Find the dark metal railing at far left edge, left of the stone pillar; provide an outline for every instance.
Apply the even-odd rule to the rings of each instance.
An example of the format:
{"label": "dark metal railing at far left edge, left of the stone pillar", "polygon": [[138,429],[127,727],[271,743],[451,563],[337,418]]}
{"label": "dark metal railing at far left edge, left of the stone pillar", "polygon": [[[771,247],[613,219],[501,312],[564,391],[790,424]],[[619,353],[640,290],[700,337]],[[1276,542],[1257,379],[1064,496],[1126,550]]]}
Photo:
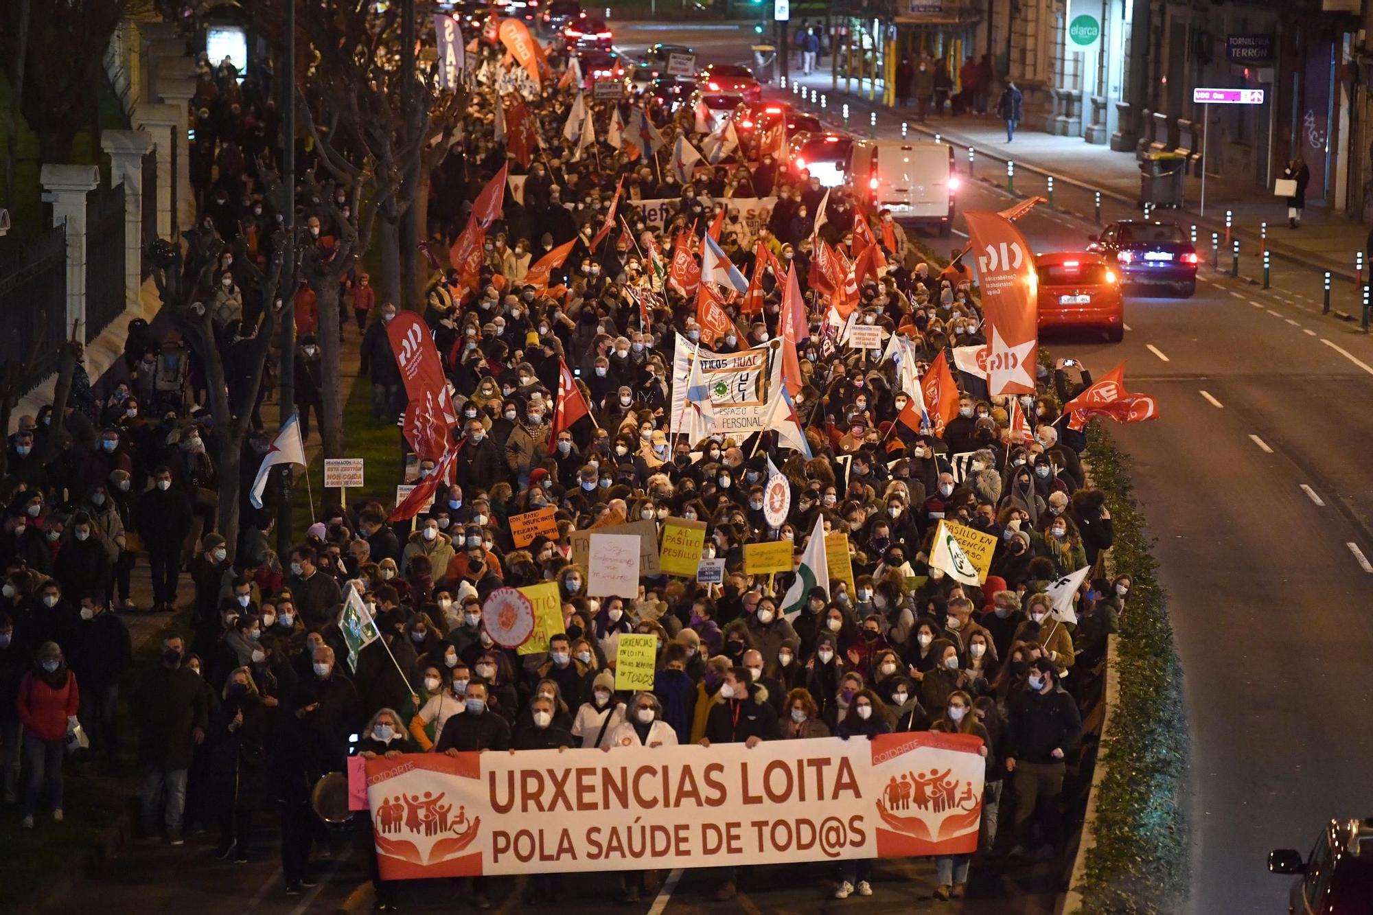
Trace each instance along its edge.
{"label": "dark metal railing at far left edge, left of the stone pillar", "polygon": [[18,375],[16,396],[27,394],[58,371],[66,323],[66,227],[45,229],[26,242],[0,239],[0,365],[29,359],[41,334],[38,359]]}

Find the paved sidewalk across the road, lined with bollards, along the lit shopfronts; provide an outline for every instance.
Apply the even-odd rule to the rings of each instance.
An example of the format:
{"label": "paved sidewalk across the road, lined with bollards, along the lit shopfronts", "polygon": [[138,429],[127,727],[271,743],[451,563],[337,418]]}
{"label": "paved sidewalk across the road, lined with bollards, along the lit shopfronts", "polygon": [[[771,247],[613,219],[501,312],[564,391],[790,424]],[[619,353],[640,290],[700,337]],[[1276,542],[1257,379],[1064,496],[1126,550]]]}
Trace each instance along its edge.
{"label": "paved sidewalk across the road, lined with bollards, along the lit shopfronts", "polygon": [[[1053,177],[1056,195],[1070,198],[1078,206],[1079,214],[1092,218],[1093,201],[1087,195],[1100,191],[1104,203],[1114,203],[1105,221],[1126,218],[1120,207],[1134,210],[1140,217],[1140,166],[1134,152],[1118,152],[1108,146],[1097,146],[1082,137],[1054,136],[1032,126],[1019,126],[1015,142],[1006,142],[1005,122],[990,115],[964,114],[957,118],[930,118],[916,121],[916,107],[887,109],[880,100],[868,102],[866,84],[864,92],[857,92],[859,81],[854,81],[854,95],[846,95],[844,81],[839,81],[838,92],[832,89],[829,71],[811,76],[794,76],[800,85],[828,95],[824,120],[842,124],[840,110],[850,106],[850,131],[857,136],[868,136],[869,115],[876,109],[877,131],[881,136],[899,136],[901,124],[909,124],[912,133],[932,136],[957,147],[956,162],[960,172],[968,168],[967,148],[976,151],[975,174],[1004,181],[1008,161],[1015,162],[1016,190],[1023,194],[1043,194],[1046,177]],[[787,92],[789,100],[796,96]],[[879,93],[880,99],[880,93]],[[811,106],[805,106],[811,110]],[[989,162],[990,159],[990,162]],[[994,163],[994,165],[993,165]],[[1065,194],[1067,191],[1067,194]],[[1072,198],[1076,191],[1081,199]],[[1259,250],[1260,223],[1267,221],[1267,249],[1274,258],[1287,258],[1317,269],[1328,269],[1333,276],[1346,280],[1355,279],[1355,254],[1365,250],[1369,227],[1339,213],[1307,210],[1299,229],[1288,228],[1287,201],[1266,194],[1248,183],[1236,181],[1215,174],[1205,181],[1205,217],[1199,214],[1201,179],[1185,179],[1185,203],[1177,210],[1155,210],[1159,218],[1177,218],[1185,227],[1197,225],[1199,247],[1210,246],[1211,232],[1225,236],[1226,212],[1233,213],[1232,238],[1240,239],[1245,254]],[[1085,209],[1083,209],[1085,207]],[[1105,209],[1105,207],[1104,207]],[[1173,216],[1175,214],[1175,216]],[[1369,276],[1365,268],[1363,278]]]}

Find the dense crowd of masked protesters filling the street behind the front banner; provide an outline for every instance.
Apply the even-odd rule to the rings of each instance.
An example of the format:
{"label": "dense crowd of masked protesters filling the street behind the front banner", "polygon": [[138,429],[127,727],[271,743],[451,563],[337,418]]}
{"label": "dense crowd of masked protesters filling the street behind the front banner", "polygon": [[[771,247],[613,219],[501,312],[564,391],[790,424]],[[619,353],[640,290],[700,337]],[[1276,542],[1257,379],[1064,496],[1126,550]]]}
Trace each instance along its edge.
{"label": "dense crowd of masked protesters filling the street behind the front banner", "polygon": [[[559,55],[553,65],[564,66]],[[255,159],[270,158],[279,117],[262,81],[235,76],[202,66],[192,100],[196,196],[221,235],[247,227],[249,256],[262,257],[280,214],[264,199]],[[476,282],[446,269],[427,289],[424,320],[460,418],[453,479],[438,485],[427,511],[390,522],[389,504],[324,506],[279,556],[268,536],[270,506],[254,511],[244,503],[244,533],[225,543],[214,532],[216,468],[206,448],[216,430],[195,407],[205,403],[203,374],[189,364],[178,385],[158,382],[177,343],[151,327],[136,328],[122,368],[96,385],[107,394],[97,398],[77,372],[65,419],[70,448],[32,460],[49,453],[41,445],[51,412],[21,419],[8,440],[16,485],[0,540],[4,800],[21,804],[25,827],[34,827],[40,801],[60,820],[65,747],[80,724],[89,753],[118,765],[126,741],[117,709],[126,702],[143,778],[143,835],[180,845],[187,831],[210,827],[218,830],[218,857],[249,860],[266,850],[254,838],[264,820],[275,820],[286,892],[299,893],[319,879],[317,852],[328,841],[310,790],[345,767],[350,749],[754,745],[932,730],[979,736],[986,757],[979,855],[941,857],[936,897],[961,896],[973,860],[991,867],[1008,852],[1054,855],[1063,838],[1059,793],[1082,735],[1079,705],[1089,702],[1105,637],[1130,592],[1127,578],[1104,577],[1109,514],[1083,477],[1082,434],[1059,414],[1086,379],[1063,365],[1041,367],[1038,393],[1012,403],[987,397],[983,382],[960,372],[958,415],[941,434],[898,423],[912,393],[880,352],[836,339],[839,328],[825,320],[829,295],[811,283],[816,246],[846,257],[864,238],[883,246],[888,268],[858,283],[857,320],[879,326],[884,338],[912,339],[921,370],[954,346],[983,342],[968,271],[925,261],[890,213],[843,188],[827,198],[818,180],[774,155],[732,150],[681,180],[671,148],[676,135],[692,133],[691,110],[644,102],[663,146],[633,157],[605,143],[615,103],[586,93],[597,143],[578,152],[564,124],[584,87],[557,76],[526,89],[541,148],[524,165],[496,139],[492,87],[501,65],[487,54],[463,139],[432,176],[435,250],[459,235],[500,168],[526,177],[519,195],[505,192]],[[611,231],[593,245],[618,185]],[[733,198],[776,203],[750,220]],[[670,214],[651,221],[641,202],[663,199]],[[305,212],[312,238],[331,234],[330,209]],[[805,383],[792,398],[809,460],[778,448],[772,431],[761,442],[674,434],[674,350],[682,339],[699,342],[702,327],[695,297],[659,265],[674,243],[697,250],[707,231],[718,231],[744,276],[765,253],[784,271],[796,267],[810,337],[799,346]],[[524,283],[531,262],[574,239],[549,283]],[[726,305],[736,327],[710,341],[711,349],[777,337],[784,279],[763,271],[757,313]],[[216,283],[229,328],[224,345],[232,348],[250,335],[243,328],[255,326],[261,301],[232,258],[218,265]],[[358,383],[372,386],[373,420],[394,426],[404,397],[384,324],[395,304],[378,301],[365,276],[346,283],[345,302],[361,331]],[[319,412],[312,363],[335,343],[316,339],[312,300],[308,289],[298,293],[302,418],[312,407]],[[563,363],[575,370],[592,414],[553,433]],[[1011,441],[1012,409],[1023,411],[1032,444]],[[249,437],[246,479],[272,434],[259,425]],[[956,478],[949,458],[968,452],[973,460]],[[844,455],[847,470],[835,460]],[[778,526],[762,511],[768,456],[792,488]],[[434,460],[420,462],[422,478],[434,471]],[[507,519],[545,506],[556,510],[559,536],[516,548]],[[726,561],[724,584],[663,577],[645,580],[637,594],[586,595],[588,570],[570,561],[573,530],[669,517],[707,522],[704,558]],[[827,532],[849,533],[854,588],[817,588],[788,621],[778,600],[789,576],[773,589],[766,577],[744,574],[741,547],[789,540],[799,554],[817,518]],[[941,519],[995,537],[980,585],[928,565]],[[130,573],[144,562],[154,595],[135,607]],[[1082,566],[1094,572],[1070,624],[1045,589]],[[195,585],[194,599],[181,595],[188,625],[162,635],[158,659],[121,695],[132,654],[121,614],[176,611],[183,574]],[[566,633],[533,655],[497,646],[483,629],[483,599],[503,585],[544,581],[559,588]],[[345,662],[338,626],[349,588],[361,592],[382,633],[356,669]],[[615,691],[611,665],[622,633],[658,639],[651,691]],[[1004,789],[1012,813],[998,831]],[[1012,835],[1002,841],[1000,833]],[[868,861],[849,863],[827,892],[870,894],[869,874]],[[549,899],[562,892],[553,878],[531,888]],[[625,878],[626,899],[643,890],[643,872]],[[730,872],[717,897],[735,892]],[[378,882],[382,908],[395,894]],[[474,899],[489,904],[485,882]]]}

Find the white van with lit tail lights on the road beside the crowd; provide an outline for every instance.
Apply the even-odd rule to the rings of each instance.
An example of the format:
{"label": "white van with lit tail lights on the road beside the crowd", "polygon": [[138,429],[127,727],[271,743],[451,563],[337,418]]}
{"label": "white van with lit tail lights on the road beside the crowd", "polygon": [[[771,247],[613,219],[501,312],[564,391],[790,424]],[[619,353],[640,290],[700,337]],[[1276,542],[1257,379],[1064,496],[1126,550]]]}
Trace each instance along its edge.
{"label": "white van with lit tail lights on the road beside the crowd", "polygon": [[873,210],[890,209],[902,225],[953,228],[953,147],[932,140],[854,140],[849,191]]}

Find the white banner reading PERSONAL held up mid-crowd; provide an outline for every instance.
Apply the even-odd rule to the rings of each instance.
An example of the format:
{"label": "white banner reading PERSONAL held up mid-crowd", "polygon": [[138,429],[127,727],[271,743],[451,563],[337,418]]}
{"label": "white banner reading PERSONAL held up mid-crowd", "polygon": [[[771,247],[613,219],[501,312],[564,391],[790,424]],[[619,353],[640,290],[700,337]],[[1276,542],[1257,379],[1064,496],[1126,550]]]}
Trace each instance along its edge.
{"label": "white banner reading PERSONAL held up mid-crowd", "polygon": [[700,360],[700,383],[715,412],[714,431],[737,440],[769,427],[768,401],[781,389],[781,341],[770,339],[737,353],[713,353],[678,337],[670,431],[681,431],[692,359]]}

